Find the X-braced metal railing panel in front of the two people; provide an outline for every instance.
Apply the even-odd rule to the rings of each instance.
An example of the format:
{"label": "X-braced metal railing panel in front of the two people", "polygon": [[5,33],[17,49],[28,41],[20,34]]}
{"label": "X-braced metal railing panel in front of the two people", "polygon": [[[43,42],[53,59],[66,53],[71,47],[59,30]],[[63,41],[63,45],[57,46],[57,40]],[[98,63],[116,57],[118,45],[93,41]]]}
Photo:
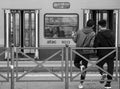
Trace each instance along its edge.
{"label": "X-braced metal railing panel in front of the two people", "polygon": [[[86,57],[84,57],[82,54],[80,54],[80,53],[78,53],[77,51],[76,51],[76,49],[79,49],[79,50],[81,50],[81,49],[89,49],[89,50],[97,50],[97,49],[113,49],[111,52],[109,52],[107,55],[105,55],[105,56],[103,56],[102,58],[100,58],[99,60],[97,60],[96,62],[92,62],[90,59],[87,59]],[[105,69],[102,69],[101,67],[99,67],[98,65],[97,65],[97,63],[99,63],[99,62],[101,62],[102,60],[104,60],[106,57],[108,57],[108,56],[110,56],[111,54],[113,54],[113,53],[115,53],[116,51],[117,51],[118,49],[116,48],[116,47],[98,47],[98,48],[83,48],[83,47],[73,47],[73,48],[71,48],[71,62],[70,62],[70,80],[71,81],[80,81],[80,80],[74,80],[76,77],[78,77],[80,74],[82,74],[82,73],[84,73],[85,71],[87,71],[87,70],[89,70],[91,67],[96,67],[96,68],[98,68],[98,69],[100,69],[101,71],[103,71],[104,73],[106,73],[107,75],[109,75],[109,76],[111,76],[112,78],[113,78],[113,80],[118,80],[118,54],[116,54],[116,62],[115,62],[115,64],[116,64],[116,68],[115,68],[115,76],[113,76],[113,75],[111,75],[110,73],[108,73]],[[83,70],[83,71],[81,71],[81,72],[79,72],[79,73],[77,73],[76,75],[74,75],[73,76],[73,74],[72,74],[72,72],[73,72],[73,70],[72,70],[72,54],[76,54],[76,55],[78,55],[78,56],[80,56],[81,58],[83,58],[84,60],[86,60],[88,63],[90,63],[91,64],[91,66],[89,66],[88,68],[86,68],[85,70]],[[117,53],[117,52],[116,52]],[[104,80],[104,81],[113,81],[113,80]],[[81,80],[81,81],[83,81],[83,80]],[[100,80],[84,80],[84,81],[100,81]]]}

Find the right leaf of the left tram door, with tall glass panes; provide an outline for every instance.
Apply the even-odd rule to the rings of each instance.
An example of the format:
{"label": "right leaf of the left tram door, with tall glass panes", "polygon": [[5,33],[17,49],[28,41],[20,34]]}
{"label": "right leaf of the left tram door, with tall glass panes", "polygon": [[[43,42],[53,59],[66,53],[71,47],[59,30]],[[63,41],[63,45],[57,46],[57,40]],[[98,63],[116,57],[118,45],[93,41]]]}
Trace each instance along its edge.
{"label": "right leaf of the left tram door, with tall glass panes", "polygon": [[26,47],[35,47],[35,13],[25,13],[24,43]]}

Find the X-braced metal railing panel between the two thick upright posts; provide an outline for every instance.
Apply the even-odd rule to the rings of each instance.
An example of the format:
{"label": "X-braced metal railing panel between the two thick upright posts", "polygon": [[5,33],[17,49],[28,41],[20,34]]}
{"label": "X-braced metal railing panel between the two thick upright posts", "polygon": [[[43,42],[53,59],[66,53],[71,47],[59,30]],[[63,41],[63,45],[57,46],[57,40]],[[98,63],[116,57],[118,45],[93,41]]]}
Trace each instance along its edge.
{"label": "X-braced metal railing panel between the two thick upright posts", "polygon": [[[40,50],[41,48],[16,48],[16,81],[17,82],[34,82],[34,81],[39,81],[39,82],[45,82],[45,81],[63,81],[63,58],[64,58],[64,54],[63,54],[63,48],[51,48],[51,47],[46,47],[45,49],[58,49],[57,52],[53,53],[51,56],[49,56],[48,58],[42,60],[42,61],[36,61],[35,58],[30,57],[29,55],[25,54],[24,52],[21,51],[21,49],[34,49],[34,50]],[[43,48],[42,48],[43,49]],[[19,75],[19,57],[18,57],[18,53],[21,53],[22,55],[24,55],[26,58],[28,58],[28,61],[32,61],[34,63],[34,67],[30,68],[28,71],[26,71],[25,73]],[[57,73],[51,71],[49,68],[45,67],[44,64],[47,61],[50,61],[53,57],[55,57],[58,54],[62,54],[62,58],[61,58],[61,76],[58,75]],[[29,67],[29,66],[28,66]],[[48,71],[50,74],[54,75],[56,78],[58,78],[58,80],[54,80],[54,79],[49,79],[49,80],[22,80],[22,78],[24,78],[28,73],[38,69],[38,68],[43,68],[44,70]]]}

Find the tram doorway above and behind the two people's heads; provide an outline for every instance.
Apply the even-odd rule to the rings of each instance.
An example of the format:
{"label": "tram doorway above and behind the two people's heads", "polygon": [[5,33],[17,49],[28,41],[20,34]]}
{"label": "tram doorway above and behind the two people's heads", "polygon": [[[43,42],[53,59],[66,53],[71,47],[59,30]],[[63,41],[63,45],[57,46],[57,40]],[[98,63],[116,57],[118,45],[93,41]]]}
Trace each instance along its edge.
{"label": "tram doorway above and behind the two people's heads", "polygon": [[98,21],[104,19],[107,21],[107,28],[113,30],[114,32],[117,30],[118,24],[118,10],[92,10],[92,9],[84,9],[84,26],[88,19],[93,19],[95,21],[95,32],[98,32]]}

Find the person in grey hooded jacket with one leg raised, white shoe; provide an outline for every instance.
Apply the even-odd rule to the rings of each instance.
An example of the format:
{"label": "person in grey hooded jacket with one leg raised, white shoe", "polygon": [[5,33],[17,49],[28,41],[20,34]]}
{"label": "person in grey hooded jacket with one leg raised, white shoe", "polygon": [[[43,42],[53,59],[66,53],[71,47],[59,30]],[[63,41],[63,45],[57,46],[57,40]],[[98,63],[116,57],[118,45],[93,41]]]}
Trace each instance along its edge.
{"label": "person in grey hooded jacket with one leg raised, white shoe", "polygon": [[[78,30],[75,33],[75,35],[73,36],[73,41],[76,43],[76,47],[93,46],[93,42],[95,38],[95,32],[93,31],[94,26],[95,26],[95,22],[90,19],[87,21],[85,28]],[[89,60],[91,55],[91,50],[77,49],[76,51]],[[82,72],[84,69],[87,68],[88,61],[76,54],[74,59],[74,65],[75,67],[79,68],[80,71]],[[80,84],[78,85],[78,88],[83,88],[83,82],[85,80],[85,76],[86,76],[86,71],[81,73]]]}

